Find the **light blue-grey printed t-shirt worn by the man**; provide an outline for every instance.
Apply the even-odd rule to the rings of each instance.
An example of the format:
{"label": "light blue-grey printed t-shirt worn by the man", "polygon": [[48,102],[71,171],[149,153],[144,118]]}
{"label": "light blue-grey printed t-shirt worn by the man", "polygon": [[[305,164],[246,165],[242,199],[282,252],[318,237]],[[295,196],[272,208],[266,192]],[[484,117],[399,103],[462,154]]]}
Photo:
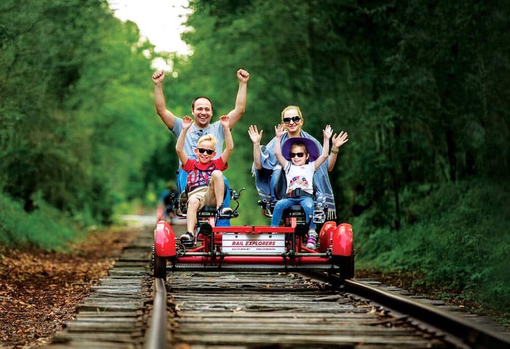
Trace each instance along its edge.
{"label": "light blue-grey printed t-shirt worn by the man", "polygon": [[[175,117],[173,122],[173,129],[170,131],[172,131],[175,137],[179,138],[179,135],[183,131],[183,119]],[[223,153],[223,142],[225,140],[225,132],[223,131],[221,122],[218,120],[216,122],[210,123],[209,126],[205,129],[199,129],[193,122],[190,129],[186,133],[186,138],[184,139],[184,152],[188,156],[188,159],[197,159],[195,154],[196,144],[198,143],[198,139],[200,137],[207,134],[212,134],[217,140],[215,149],[216,155],[214,158],[217,159],[221,156],[221,153]],[[182,166],[181,161],[179,161],[179,166]]]}

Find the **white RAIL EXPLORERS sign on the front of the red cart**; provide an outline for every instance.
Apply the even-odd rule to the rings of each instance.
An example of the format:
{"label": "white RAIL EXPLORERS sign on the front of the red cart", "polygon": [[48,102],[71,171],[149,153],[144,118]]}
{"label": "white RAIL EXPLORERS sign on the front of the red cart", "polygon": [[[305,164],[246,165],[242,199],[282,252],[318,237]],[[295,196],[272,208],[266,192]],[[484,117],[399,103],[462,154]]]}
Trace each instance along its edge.
{"label": "white RAIL EXPLORERS sign on the front of the red cart", "polygon": [[223,233],[222,251],[225,253],[284,253],[285,234],[228,234]]}

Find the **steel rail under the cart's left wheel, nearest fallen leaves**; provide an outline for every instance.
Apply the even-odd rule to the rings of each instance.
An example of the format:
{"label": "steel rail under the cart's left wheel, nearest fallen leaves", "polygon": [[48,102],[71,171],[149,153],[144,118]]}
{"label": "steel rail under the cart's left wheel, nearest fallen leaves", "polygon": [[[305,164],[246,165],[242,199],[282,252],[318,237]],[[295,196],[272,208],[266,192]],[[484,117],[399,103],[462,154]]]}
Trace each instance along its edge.
{"label": "steel rail under the cart's left wheel, nearest fallen leaves", "polygon": [[148,320],[149,329],[145,338],[145,349],[165,349],[167,338],[166,286],[163,279],[154,279],[154,303]]}

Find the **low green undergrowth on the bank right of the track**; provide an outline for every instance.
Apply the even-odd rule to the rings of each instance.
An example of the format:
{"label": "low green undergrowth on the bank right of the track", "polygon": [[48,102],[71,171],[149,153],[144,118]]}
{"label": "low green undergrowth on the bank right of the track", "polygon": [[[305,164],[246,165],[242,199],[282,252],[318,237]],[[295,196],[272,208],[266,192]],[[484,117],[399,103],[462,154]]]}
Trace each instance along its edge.
{"label": "low green undergrowth on the bank right of the track", "polygon": [[510,309],[509,189],[507,180],[478,179],[403,192],[407,218],[398,231],[374,226],[371,208],[353,226],[358,267],[413,272],[416,287]]}

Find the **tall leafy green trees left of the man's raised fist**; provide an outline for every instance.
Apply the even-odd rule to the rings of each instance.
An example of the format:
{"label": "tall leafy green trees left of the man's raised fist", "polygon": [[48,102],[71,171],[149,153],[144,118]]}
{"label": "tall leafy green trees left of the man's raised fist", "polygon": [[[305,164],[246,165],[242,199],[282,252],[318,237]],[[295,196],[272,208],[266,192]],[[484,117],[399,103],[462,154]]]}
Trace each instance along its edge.
{"label": "tall leafy green trees left of the man's raised fist", "polygon": [[[27,213],[47,203],[82,226],[110,222],[114,204],[143,195],[143,161],[165,139],[152,45],[105,0],[4,1],[0,45],[0,188]],[[4,241],[24,241],[8,227]],[[39,234],[44,246],[59,236]]]}

